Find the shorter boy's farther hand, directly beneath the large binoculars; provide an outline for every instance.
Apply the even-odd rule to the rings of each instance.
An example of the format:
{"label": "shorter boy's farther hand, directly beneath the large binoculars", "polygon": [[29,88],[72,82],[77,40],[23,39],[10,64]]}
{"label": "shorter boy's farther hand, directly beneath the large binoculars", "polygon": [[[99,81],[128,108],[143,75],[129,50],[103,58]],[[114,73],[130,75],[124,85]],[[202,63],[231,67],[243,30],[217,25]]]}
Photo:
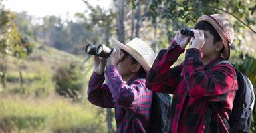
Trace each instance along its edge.
{"label": "shorter boy's farther hand, directly beneath the large binoculars", "polygon": [[98,75],[103,75],[107,59],[94,55],[94,72]]}

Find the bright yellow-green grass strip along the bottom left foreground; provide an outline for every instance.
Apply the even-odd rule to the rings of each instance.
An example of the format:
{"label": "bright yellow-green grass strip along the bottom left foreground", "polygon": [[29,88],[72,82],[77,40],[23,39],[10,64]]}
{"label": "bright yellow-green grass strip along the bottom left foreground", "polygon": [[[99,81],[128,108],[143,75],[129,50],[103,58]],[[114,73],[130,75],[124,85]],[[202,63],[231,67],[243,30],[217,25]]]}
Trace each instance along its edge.
{"label": "bright yellow-green grass strip along the bottom left foreground", "polygon": [[[78,104],[58,96],[45,99],[1,96],[0,104],[0,129],[5,125],[5,128],[19,132],[31,129],[106,132],[106,124],[100,124],[104,116],[98,116],[98,108],[88,103]],[[98,127],[92,128],[94,126]]]}

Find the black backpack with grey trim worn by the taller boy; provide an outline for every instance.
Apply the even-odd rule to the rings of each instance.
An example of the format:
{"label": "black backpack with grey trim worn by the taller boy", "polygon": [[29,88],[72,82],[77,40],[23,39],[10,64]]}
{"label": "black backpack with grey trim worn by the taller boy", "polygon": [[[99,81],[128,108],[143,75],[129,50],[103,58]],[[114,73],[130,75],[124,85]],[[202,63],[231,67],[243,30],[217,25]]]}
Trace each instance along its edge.
{"label": "black backpack with grey trim worn by the taller boy", "polygon": [[[228,63],[235,68],[235,66],[229,63],[229,61],[222,60],[213,63],[213,65],[209,66],[207,70],[211,70],[213,66],[219,65],[221,63]],[[223,122],[225,123],[226,128],[229,129],[229,132],[249,132],[251,126],[251,114],[255,100],[253,85],[247,76],[242,74],[236,68],[235,71],[237,73],[238,90],[235,94],[232,112],[229,114],[229,121],[223,118]],[[212,110],[218,110],[218,105],[216,102],[210,103],[210,106],[207,110],[206,123],[208,126],[211,120]],[[208,128],[208,126],[206,127]],[[208,130],[207,128],[205,128],[205,131]]]}

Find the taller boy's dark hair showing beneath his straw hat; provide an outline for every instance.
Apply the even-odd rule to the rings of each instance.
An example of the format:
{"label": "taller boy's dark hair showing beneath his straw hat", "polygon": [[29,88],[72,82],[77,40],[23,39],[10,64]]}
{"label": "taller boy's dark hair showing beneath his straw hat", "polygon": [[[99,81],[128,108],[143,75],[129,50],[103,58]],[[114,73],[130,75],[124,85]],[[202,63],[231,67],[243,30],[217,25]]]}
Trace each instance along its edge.
{"label": "taller boy's dark hair showing beneath his straw hat", "polygon": [[213,35],[213,43],[216,43],[218,41],[221,41],[221,37],[217,33],[217,31],[213,28],[213,26],[208,23],[207,21],[199,21],[195,26],[194,29],[200,29],[200,30],[207,30]]}

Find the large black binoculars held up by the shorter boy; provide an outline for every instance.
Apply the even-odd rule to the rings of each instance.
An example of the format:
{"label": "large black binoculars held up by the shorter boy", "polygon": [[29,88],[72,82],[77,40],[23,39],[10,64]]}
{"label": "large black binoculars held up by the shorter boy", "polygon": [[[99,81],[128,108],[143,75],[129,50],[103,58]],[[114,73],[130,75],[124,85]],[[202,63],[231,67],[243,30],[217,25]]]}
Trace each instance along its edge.
{"label": "large black binoculars held up by the shorter boy", "polygon": [[96,45],[92,43],[88,43],[88,45],[86,45],[86,48],[84,49],[84,51],[86,51],[86,53],[90,55],[97,55],[99,57],[104,57],[104,58],[110,57],[113,50],[114,50],[113,48],[107,47],[106,45],[102,44],[96,47]]}

